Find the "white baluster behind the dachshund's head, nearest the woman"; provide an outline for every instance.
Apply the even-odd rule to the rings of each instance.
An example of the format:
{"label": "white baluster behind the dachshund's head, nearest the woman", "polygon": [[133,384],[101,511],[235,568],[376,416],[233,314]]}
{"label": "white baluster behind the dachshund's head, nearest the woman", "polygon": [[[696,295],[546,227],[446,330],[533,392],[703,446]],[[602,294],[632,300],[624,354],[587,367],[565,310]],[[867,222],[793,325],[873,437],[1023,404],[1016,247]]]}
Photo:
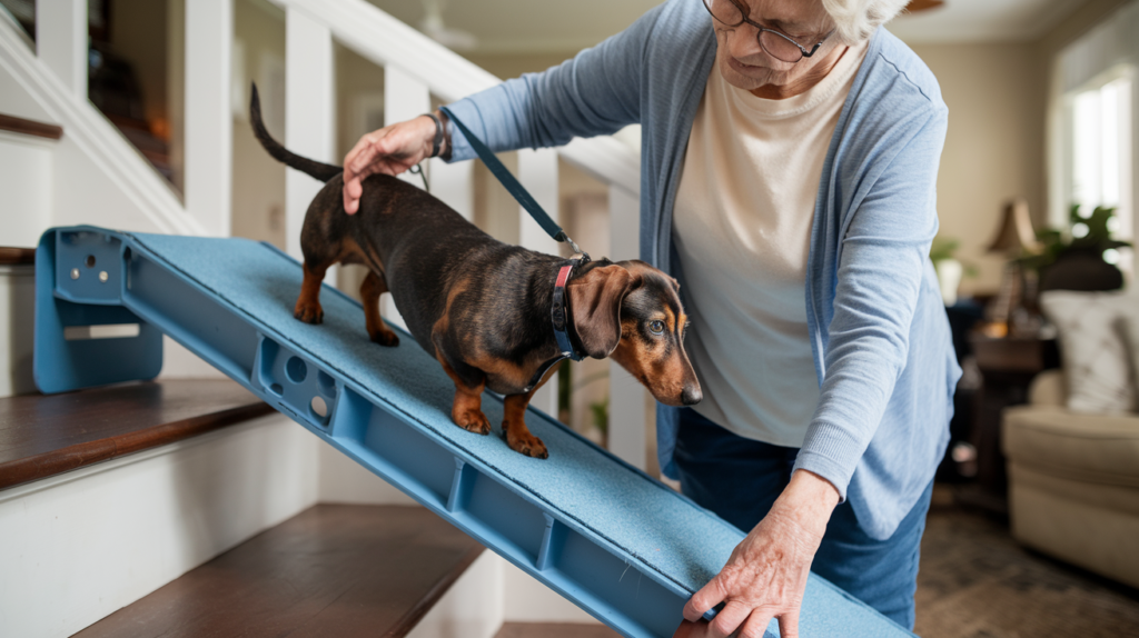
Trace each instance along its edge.
{"label": "white baluster behind the dachshund's head, nearest the woman", "polygon": [[[640,209],[637,196],[609,185],[609,241],[613,260],[639,257]],[[609,451],[645,469],[645,387],[609,362]]]}

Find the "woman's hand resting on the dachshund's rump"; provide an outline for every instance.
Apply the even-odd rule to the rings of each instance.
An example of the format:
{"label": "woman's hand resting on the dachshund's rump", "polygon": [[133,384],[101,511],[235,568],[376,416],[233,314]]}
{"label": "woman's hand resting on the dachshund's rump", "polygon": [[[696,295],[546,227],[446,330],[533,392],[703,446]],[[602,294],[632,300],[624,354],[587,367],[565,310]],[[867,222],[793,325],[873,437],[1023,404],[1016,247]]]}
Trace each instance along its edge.
{"label": "woman's hand resting on the dachshund's rump", "polygon": [[426,115],[360,138],[344,156],[344,210],[352,215],[360,208],[366,177],[376,173],[403,173],[431,156],[434,140],[435,123]]}

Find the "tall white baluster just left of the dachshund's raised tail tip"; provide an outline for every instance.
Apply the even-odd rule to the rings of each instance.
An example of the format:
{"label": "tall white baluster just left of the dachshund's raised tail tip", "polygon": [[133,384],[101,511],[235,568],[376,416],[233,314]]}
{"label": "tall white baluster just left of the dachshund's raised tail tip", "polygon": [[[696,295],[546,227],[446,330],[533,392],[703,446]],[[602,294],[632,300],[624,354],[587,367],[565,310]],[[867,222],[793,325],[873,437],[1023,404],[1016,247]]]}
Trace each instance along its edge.
{"label": "tall white baluster just left of the dachshund's raised tail tip", "polygon": [[186,209],[211,235],[230,234],[232,0],[186,2]]}

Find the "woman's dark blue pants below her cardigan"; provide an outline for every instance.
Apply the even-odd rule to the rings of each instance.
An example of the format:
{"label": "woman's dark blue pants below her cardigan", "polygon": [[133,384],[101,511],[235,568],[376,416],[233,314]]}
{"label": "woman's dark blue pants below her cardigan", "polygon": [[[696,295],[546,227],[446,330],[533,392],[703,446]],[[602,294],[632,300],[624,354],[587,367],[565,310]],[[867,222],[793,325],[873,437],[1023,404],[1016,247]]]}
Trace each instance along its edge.
{"label": "woman's dark blue pants below her cardigan", "polygon": [[[685,495],[744,532],[787,487],[797,454],[798,448],[738,437],[691,408],[680,411],[673,458]],[[886,540],[862,531],[849,500],[838,505],[811,571],[912,630],[918,554],[932,494],[933,482]]]}

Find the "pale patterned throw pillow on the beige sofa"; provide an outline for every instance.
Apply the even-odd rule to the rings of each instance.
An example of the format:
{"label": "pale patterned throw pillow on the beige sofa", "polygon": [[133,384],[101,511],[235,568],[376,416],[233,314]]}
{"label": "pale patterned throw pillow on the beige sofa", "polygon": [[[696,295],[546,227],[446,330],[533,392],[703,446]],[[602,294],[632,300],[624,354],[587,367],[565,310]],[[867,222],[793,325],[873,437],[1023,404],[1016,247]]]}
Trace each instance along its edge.
{"label": "pale patterned throw pillow on the beige sofa", "polygon": [[1139,313],[1139,297],[1052,290],[1040,296],[1040,307],[1059,331],[1068,409],[1133,411],[1136,389],[1121,323]]}

